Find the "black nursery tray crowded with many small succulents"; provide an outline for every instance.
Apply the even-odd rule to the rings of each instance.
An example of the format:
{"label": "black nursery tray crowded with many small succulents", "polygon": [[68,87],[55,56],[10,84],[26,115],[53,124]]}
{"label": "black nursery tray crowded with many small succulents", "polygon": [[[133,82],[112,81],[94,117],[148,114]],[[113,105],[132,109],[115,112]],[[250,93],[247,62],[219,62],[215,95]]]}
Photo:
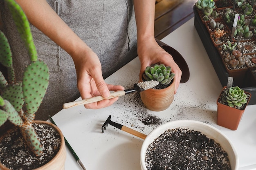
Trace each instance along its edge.
{"label": "black nursery tray crowded with many small succulents", "polygon": [[[256,0],[198,0],[194,26],[222,86],[252,94],[256,104]],[[235,24],[234,24],[235,23]]]}

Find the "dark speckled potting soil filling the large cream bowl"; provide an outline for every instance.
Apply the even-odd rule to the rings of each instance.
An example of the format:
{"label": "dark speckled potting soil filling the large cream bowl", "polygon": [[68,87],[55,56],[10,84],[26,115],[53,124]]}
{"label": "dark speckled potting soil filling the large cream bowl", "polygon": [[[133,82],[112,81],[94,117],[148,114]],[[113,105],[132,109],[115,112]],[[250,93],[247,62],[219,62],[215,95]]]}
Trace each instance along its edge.
{"label": "dark speckled potting soil filling the large cream bowl", "polygon": [[146,151],[148,170],[231,170],[225,150],[201,132],[166,130]]}

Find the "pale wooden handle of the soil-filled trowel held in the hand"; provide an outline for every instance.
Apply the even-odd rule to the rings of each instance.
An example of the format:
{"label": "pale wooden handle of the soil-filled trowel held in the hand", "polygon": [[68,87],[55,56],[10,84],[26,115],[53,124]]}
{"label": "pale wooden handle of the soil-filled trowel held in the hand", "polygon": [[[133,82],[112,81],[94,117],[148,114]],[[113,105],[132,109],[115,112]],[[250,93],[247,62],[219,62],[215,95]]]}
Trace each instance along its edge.
{"label": "pale wooden handle of the soil-filled trowel held in the hand", "polygon": [[104,99],[112,99],[112,98],[115,98],[115,97],[124,96],[125,94],[126,94],[125,91],[115,91],[113,93],[110,93],[110,96],[108,98],[104,98],[102,96],[96,96],[96,97],[92,97],[92,98],[88,98],[88,99],[82,99],[82,100],[79,100],[79,101],[64,103],[63,108],[72,108],[74,106],[99,102],[99,101],[104,100]]}

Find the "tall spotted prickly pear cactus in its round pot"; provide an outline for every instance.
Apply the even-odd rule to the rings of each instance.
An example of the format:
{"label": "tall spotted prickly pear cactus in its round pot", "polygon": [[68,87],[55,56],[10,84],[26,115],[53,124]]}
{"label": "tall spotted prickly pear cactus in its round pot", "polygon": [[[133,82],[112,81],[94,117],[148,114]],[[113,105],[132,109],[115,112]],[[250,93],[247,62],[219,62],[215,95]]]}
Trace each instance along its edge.
{"label": "tall spotted prickly pear cactus in its round pot", "polygon": [[[18,80],[15,77],[10,45],[4,33],[0,31],[0,62],[7,68],[8,73],[4,75],[0,72],[0,126],[4,125],[5,122],[11,122],[15,125],[0,138],[0,169],[28,169],[26,166],[23,167],[21,163],[27,159],[26,155],[29,159],[36,160],[31,163],[33,166],[30,169],[63,170],[66,152],[61,131],[49,122],[34,121],[35,113],[47,90],[49,82],[48,67],[43,61],[38,60],[25,13],[14,0],[4,0],[4,2],[11,11],[13,21],[31,58],[31,63],[25,68],[22,80]],[[43,129],[38,130],[40,128]],[[50,142],[43,140],[43,132],[46,129],[51,129],[56,134],[56,137],[50,136],[54,140]],[[38,131],[40,134],[38,134]],[[49,133],[49,131],[46,131],[45,135],[50,135]],[[17,138],[14,138],[14,136]],[[10,141],[13,143],[11,144]],[[47,162],[44,161],[40,165],[39,160],[51,154],[45,144],[53,144],[48,146],[52,148],[53,155]],[[18,148],[23,150],[18,150]],[[25,153],[25,155],[7,157],[8,155],[18,155],[18,153]],[[45,155],[46,157],[44,157]],[[54,161],[51,161],[53,159]]]}

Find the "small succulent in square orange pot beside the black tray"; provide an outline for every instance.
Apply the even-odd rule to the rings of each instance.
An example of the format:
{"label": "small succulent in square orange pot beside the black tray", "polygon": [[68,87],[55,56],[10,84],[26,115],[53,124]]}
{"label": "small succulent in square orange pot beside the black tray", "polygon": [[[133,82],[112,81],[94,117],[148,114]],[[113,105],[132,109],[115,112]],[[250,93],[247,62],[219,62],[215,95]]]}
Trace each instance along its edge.
{"label": "small succulent in square orange pot beside the black tray", "polygon": [[238,86],[225,86],[217,99],[217,124],[236,130],[250,98],[251,94]]}

